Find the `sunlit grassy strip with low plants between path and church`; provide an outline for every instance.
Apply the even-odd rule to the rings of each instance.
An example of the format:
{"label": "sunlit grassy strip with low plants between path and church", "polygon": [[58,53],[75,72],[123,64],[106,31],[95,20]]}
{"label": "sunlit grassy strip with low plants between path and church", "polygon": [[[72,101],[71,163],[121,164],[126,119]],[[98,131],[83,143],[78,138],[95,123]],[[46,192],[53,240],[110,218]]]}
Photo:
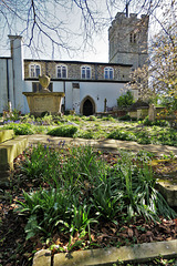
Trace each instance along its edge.
{"label": "sunlit grassy strip with low plants between path and church", "polygon": [[114,139],[135,141],[139,144],[163,144],[177,146],[177,131],[167,121],[121,122],[112,116],[76,116],[64,115],[54,117],[45,115],[34,119],[25,115],[18,121],[4,121],[4,129],[12,129],[17,135],[50,134],[82,139]]}

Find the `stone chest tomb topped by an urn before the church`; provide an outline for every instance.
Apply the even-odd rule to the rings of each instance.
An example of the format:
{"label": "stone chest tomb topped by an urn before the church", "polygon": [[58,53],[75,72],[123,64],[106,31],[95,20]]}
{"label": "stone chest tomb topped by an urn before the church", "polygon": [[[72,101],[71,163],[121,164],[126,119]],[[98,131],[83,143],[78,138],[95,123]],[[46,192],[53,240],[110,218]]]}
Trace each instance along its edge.
{"label": "stone chest tomb topped by an urn before the church", "polygon": [[42,113],[61,114],[61,101],[63,92],[51,92],[48,86],[50,76],[39,75],[39,82],[42,85],[40,92],[23,92],[30,109],[30,114],[41,116]]}

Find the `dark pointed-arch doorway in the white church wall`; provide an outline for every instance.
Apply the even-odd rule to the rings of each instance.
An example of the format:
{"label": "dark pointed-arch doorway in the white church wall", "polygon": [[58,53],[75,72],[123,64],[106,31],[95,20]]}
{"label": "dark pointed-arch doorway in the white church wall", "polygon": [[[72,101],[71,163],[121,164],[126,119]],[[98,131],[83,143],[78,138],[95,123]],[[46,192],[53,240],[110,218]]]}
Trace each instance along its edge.
{"label": "dark pointed-arch doorway in the white church wall", "polygon": [[91,96],[85,96],[80,105],[80,113],[88,116],[92,115],[96,112],[96,106],[95,106],[95,102]]}

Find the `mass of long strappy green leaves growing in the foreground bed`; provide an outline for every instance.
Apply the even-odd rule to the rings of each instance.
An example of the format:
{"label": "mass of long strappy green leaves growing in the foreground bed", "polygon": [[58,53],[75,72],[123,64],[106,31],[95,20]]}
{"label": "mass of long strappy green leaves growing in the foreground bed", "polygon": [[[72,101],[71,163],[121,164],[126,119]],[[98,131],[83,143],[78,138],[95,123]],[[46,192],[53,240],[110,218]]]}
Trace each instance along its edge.
{"label": "mass of long strappy green leaves growing in the foreground bed", "polygon": [[103,221],[175,216],[155,188],[149,154],[144,160],[143,153],[133,157],[124,152],[114,165],[101,155],[91,146],[56,150],[50,143],[27,154],[23,172],[31,181],[40,178],[40,184],[48,184],[48,188],[24,192],[24,200],[19,202],[20,214],[28,218],[27,238],[37,234],[50,237],[58,231],[84,236],[90,235],[93,223]]}

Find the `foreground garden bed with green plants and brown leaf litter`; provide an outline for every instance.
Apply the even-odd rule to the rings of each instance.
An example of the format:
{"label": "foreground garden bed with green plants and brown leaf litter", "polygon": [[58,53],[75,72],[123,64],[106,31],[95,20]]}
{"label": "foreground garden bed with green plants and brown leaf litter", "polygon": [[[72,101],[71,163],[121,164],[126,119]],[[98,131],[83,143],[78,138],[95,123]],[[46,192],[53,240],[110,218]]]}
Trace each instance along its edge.
{"label": "foreground garden bed with green plants and brown leaf litter", "polygon": [[21,154],[11,187],[0,192],[0,264],[31,265],[41,248],[55,254],[176,239],[176,213],[153,194],[150,160],[63,142],[58,151],[40,145]]}

